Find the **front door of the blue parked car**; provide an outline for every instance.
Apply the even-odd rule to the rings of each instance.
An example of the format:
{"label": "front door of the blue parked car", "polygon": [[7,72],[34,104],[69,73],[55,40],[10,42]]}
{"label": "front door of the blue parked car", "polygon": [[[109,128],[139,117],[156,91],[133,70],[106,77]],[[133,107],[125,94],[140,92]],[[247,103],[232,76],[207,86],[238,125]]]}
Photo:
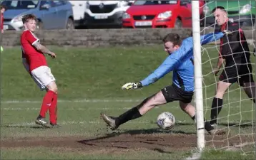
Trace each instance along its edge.
{"label": "front door of the blue parked car", "polygon": [[58,26],[57,10],[52,1],[41,1],[39,10],[42,12],[41,21],[44,29],[54,29]]}

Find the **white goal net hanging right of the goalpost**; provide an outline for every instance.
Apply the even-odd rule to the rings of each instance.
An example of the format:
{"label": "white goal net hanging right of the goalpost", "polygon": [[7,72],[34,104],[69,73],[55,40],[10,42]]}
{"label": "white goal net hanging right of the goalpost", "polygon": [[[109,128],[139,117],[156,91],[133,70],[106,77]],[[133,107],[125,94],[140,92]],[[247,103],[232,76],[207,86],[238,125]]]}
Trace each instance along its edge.
{"label": "white goal net hanging right of the goalpost", "polygon": [[[250,48],[250,62],[247,62],[247,64],[252,65],[252,75],[255,80],[255,56],[253,55],[253,50],[255,49],[255,1],[205,1],[204,6],[198,6],[199,10],[202,11],[200,12],[200,35],[220,31],[220,26],[215,23],[215,17],[212,14],[212,10],[217,6],[224,7],[228,21],[237,23],[245,34]],[[192,11],[192,14],[195,14],[195,8]],[[201,16],[202,14],[204,16]],[[193,36],[196,31],[194,23],[197,23],[195,19],[193,19]],[[231,43],[235,42],[230,41],[227,44],[230,46]],[[242,44],[242,40],[239,43]],[[211,119],[212,102],[215,98],[217,83],[225,68],[225,63],[223,63],[220,72],[217,75],[213,73],[220,58],[221,47],[221,41],[215,41],[200,48],[202,56],[200,65],[202,67],[202,90],[195,90],[195,92],[202,92],[201,101],[206,120]],[[232,54],[235,55],[237,53]],[[198,57],[195,56],[196,58]],[[197,70],[196,66],[195,70]],[[240,77],[244,75],[240,75]],[[248,77],[250,78],[250,76]],[[195,75],[195,80],[198,80],[197,75]],[[197,82],[195,82],[196,84]],[[198,89],[198,85],[195,88]],[[248,86],[247,88],[255,92],[255,87]],[[228,87],[222,101],[222,110],[217,116],[215,128],[225,131],[226,134],[209,136],[205,132],[205,137],[202,138],[205,139],[205,147],[227,150],[237,149],[242,154],[255,153],[255,103],[247,96],[245,88],[237,82]],[[198,102],[200,102],[200,99],[197,97],[195,106],[198,106]],[[198,138],[200,139],[200,135]]]}

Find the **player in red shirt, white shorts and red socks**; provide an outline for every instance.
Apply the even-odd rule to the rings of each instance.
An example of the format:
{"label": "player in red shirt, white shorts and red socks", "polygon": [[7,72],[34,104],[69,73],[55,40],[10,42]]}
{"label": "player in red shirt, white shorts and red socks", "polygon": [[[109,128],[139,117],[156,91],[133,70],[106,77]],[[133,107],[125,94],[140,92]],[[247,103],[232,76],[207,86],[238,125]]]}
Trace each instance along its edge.
{"label": "player in red shirt, white shorts and red socks", "polygon": [[40,44],[39,38],[34,35],[36,30],[36,16],[27,14],[22,17],[24,32],[21,34],[21,50],[24,67],[34,79],[41,90],[46,90],[39,116],[36,124],[49,127],[45,120],[46,112],[49,110],[51,127],[56,124],[57,86],[51,69],[47,66],[44,54],[56,58],[55,53]]}

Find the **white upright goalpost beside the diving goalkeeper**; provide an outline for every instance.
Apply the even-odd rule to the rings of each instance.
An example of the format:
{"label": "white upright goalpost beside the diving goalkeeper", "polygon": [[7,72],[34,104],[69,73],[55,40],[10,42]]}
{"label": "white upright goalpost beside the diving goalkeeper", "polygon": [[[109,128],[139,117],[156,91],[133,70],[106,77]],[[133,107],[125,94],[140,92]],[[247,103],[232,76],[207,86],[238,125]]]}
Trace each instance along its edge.
{"label": "white upright goalpost beside the diving goalkeeper", "polygon": [[200,43],[200,5],[199,1],[192,1],[192,32],[195,64],[195,108],[197,122],[197,148],[205,148],[205,122],[202,97],[202,65]]}

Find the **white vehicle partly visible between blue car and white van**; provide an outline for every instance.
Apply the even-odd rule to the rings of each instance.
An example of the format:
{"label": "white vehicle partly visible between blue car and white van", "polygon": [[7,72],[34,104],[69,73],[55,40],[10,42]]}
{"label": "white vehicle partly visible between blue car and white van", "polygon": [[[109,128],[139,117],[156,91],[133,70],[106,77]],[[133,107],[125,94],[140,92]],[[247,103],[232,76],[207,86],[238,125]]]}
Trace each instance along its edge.
{"label": "white vehicle partly visible between blue car and white van", "polygon": [[74,14],[74,26],[84,26],[84,13],[87,8],[87,1],[69,1],[72,4]]}

